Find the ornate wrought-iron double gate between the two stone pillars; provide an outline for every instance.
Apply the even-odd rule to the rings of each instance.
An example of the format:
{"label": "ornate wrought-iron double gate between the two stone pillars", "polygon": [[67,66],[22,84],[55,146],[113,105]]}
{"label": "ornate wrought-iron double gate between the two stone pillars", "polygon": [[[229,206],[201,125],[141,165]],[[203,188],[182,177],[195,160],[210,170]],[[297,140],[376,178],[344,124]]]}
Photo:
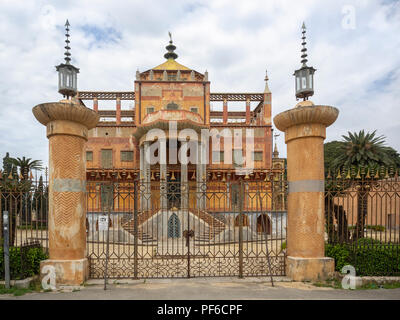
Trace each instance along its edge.
{"label": "ornate wrought-iron double gate between the two stone pillars", "polygon": [[[107,278],[285,275],[283,175],[165,184],[88,181],[91,278],[103,278],[105,270]],[[108,209],[108,229],[101,230],[99,217]]]}

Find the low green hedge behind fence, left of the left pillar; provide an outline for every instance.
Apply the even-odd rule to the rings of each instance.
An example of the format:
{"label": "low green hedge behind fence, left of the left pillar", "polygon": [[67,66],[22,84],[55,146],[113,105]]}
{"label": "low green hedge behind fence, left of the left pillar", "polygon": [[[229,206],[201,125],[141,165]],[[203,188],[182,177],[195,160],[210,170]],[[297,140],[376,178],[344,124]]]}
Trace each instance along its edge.
{"label": "low green hedge behind fence, left of the left pillar", "polygon": [[[40,271],[40,261],[48,258],[41,247],[31,247],[21,252],[20,247],[10,248],[10,277],[18,280],[31,277]],[[0,279],[4,280],[4,251],[0,248]]]}

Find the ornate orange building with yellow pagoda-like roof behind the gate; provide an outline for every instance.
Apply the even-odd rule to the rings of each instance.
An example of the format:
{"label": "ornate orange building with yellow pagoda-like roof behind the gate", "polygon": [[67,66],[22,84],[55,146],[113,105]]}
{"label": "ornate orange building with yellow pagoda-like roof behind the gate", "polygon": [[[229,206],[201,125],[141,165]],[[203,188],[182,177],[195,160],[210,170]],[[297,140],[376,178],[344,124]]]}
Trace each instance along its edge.
{"label": "ornate orange building with yellow pagoda-like roof behind the gate", "polygon": [[[133,199],[125,199],[121,190],[140,181],[138,209],[148,212],[148,218],[162,210],[237,211],[240,180],[245,182],[244,210],[283,211],[283,193],[276,199],[282,205],[272,205],[272,197],[255,199],[260,190],[273,191],[268,182],[283,181],[283,159],[272,157],[268,76],[261,93],[212,93],[207,71],[178,63],[172,39],[166,49],[164,63],[136,72],[134,91],[78,92],[77,98],[87,106],[91,100],[101,117],[89,131],[88,184],[118,181],[119,191],[112,191],[112,211],[124,213],[132,210]],[[99,100],[113,100],[115,107],[99,108]],[[124,100],[134,102],[134,107],[123,110]],[[213,103],[222,104],[222,110],[214,110]],[[244,110],[237,111],[237,104]],[[182,152],[188,163],[181,161]],[[146,155],[157,161],[149,161]],[[251,170],[243,165],[249,162]],[[89,212],[104,211],[106,194],[113,186],[102,183],[97,188],[101,190],[94,191],[96,199],[89,199]],[[206,192],[212,192],[213,199]],[[260,214],[246,216],[244,225],[261,232],[268,220],[272,229],[271,215],[267,219]],[[237,219],[232,219],[236,225]]]}

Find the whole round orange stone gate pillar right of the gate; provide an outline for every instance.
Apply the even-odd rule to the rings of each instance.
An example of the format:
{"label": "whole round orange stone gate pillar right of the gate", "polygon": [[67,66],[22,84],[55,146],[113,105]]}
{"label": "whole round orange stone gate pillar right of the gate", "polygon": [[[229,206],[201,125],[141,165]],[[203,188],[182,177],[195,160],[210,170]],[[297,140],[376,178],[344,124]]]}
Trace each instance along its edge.
{"label": "whole round orange stone gate pillar right of the gate", "polygon": [[334,107],[303,101],[274,118],[287,144],[286,274],[296,281],[323,279],[334,271],[324,250],[324,139],[338,114]]}

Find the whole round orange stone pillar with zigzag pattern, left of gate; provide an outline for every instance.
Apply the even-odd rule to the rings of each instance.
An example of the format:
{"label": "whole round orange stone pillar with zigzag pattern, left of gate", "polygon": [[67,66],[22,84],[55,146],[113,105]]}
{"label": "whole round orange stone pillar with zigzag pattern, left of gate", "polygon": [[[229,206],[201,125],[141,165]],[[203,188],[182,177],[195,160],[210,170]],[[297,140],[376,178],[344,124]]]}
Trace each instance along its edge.
{"label": "whole round orange stone pillar with zigzag pattern, left of gate", "polygon": [[49,259],[57,285],[79,285],[88,277],[86,258],[86,153],[88,130],[98,114],[75,100],[43,103],[32,110],[49,139]]}

